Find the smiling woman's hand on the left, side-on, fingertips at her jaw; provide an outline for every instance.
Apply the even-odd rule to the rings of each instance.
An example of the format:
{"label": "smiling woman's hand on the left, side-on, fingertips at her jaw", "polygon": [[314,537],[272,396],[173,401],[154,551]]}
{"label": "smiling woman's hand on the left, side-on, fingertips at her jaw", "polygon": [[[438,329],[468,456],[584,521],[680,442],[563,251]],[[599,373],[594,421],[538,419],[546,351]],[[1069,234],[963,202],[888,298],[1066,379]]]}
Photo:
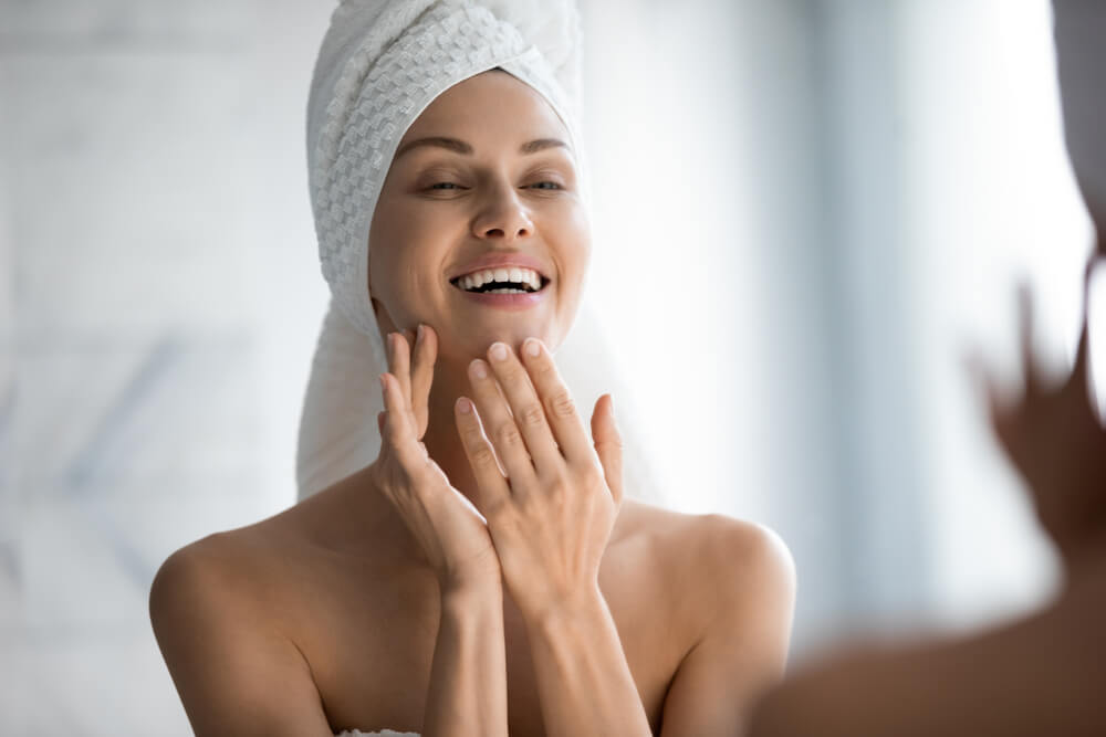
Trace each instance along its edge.
{"label": "smiling woman's hand on the left, side-on, fingertips at her jaw", "polygon": [[369,475],[422,548],[444,593],[498,587],[499,557],[488,525],[420,442],[438,345],[432,328],[420,327],[414,360],[405,336],[387,336],[389,371],[380,375],[385,411],[377,417],[380,454]]}

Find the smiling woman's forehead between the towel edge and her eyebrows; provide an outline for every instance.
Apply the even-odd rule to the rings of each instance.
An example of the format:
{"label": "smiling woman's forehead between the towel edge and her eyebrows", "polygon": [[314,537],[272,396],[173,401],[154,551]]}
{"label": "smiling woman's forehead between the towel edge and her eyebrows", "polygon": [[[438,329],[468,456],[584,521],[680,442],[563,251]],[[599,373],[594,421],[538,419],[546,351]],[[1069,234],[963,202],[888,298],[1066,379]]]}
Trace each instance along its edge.
{"label": "smiling woman's forehead between the towel edge and her eyebrows", "polygon": [[568,131],[536,90],[502,71],[477,74],[441,93],[422,110],[400,146],[424,136],[518,146],[536,138],[568,140]]}

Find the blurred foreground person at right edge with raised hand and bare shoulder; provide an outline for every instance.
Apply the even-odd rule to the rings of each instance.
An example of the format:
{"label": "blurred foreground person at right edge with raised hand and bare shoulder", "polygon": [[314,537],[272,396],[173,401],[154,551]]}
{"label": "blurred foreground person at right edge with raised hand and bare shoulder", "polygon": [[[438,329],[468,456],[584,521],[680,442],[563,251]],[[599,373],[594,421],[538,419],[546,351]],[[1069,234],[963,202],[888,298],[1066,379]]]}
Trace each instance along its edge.
{"label": "blurred foreground person at right edge with raised hand and bare shoulder", "polygon": [[753,737],[1106,735],[1106,429],[1089,377],[1091,274],[1106,257],[1106,2],[1056,0],[1065,136],[1095,224],[1071,372],[1044,376],[1021,294],[1023,381],[1014,396],[974,357],[991,427],[1064,564],[1056,599],[1025,619],[943,641],[868,646],[807,668],[761,701]]}

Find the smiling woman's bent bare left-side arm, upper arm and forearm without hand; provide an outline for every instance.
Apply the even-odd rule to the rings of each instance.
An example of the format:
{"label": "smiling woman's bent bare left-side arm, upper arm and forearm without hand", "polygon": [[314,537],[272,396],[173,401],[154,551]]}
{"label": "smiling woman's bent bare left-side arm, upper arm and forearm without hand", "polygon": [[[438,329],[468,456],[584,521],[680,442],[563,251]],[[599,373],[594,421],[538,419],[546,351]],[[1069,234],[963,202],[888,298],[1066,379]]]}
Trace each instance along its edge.
{"label": "smiling woman's bent bare left-side arm, upper arm and forearm without hand", "polygon": [[[150,620],[192,730],[209,735],[330,737],[301,651],[258,617],[247,576],[220,565],[215,536],[178,550],[150,590]],[[371,697],[366,694],[366,697]],[[503,604],[498,586],[444,592],[424,735],[505,735]]]}

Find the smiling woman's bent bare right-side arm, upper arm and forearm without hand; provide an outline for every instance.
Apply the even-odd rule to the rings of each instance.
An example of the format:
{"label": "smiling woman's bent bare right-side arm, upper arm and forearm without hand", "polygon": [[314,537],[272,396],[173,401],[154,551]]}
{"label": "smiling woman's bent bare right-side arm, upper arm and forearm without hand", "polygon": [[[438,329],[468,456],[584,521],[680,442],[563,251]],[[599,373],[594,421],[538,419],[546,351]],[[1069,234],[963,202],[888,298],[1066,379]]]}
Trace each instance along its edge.
{"label": "smiling woman's bent bare right-side arm, upper arm and forearm without hand", "polygon": [[[764,528],[712,516],[696,529],[699,580],[682,596],[710,610],[665,701],[664,737],[737,735],[753,701],[783,675],[794,567]],[[674,596],[681,596],[674,591]],[[640,697],[598,591],[528,622],[551,735],[648,735]]]}

